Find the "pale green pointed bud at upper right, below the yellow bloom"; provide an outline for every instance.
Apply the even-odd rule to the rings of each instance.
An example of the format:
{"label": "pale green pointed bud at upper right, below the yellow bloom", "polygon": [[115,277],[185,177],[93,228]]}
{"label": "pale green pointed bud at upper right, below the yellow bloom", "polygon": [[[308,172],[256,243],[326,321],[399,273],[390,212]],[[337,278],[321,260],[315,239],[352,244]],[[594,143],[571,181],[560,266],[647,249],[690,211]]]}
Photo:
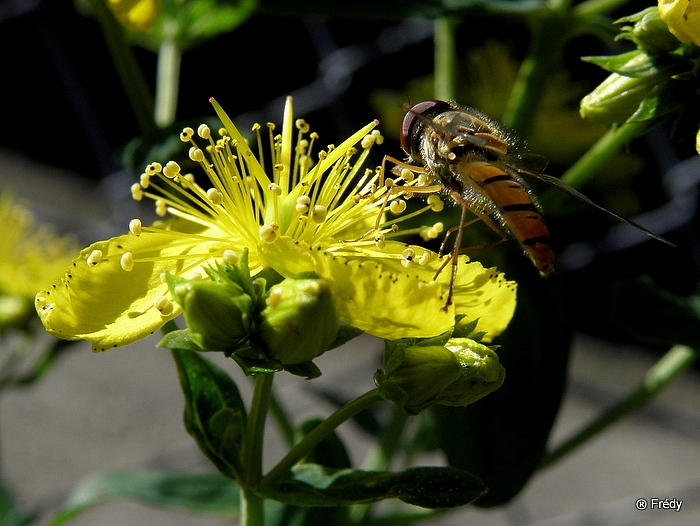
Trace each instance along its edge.
{"label": "pale green pointed bud at upper right, below the yellow bloom", "polygon": [[[632,58],[606,78],[595,90],[581,100],[581,117],[602,123],[622,123],[637,111],[652,89],[676,73],[676,63],[658,65],[646,53],[633,53]],[[611,57],[615,61],[618,57]],[[604,59],[593,60],[605,67]]]}

